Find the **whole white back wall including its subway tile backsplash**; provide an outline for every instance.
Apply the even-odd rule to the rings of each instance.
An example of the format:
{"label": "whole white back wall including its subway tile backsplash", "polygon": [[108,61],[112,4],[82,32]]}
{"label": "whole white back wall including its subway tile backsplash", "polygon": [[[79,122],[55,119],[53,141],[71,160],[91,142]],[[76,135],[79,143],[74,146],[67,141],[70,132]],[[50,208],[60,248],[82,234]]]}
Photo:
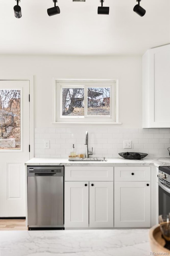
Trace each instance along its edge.
{"label": "whole white back wall including its subway tile backsplash", "polygon": [[[52,43],[52,47],[53,43]],[[129,152],[168,157],[169,129],[142,129],[142,57],[62,57],[1,55],[0,75],[34,75],[34,128],[36,157],[68,157],[71,144],[85,153],[84,136],[95,156],[117,157],[123,141],[131,140]],[[53,78],[119,79],[122,125],[52,124]],[[44,140],[50,149],[44,149]]]}

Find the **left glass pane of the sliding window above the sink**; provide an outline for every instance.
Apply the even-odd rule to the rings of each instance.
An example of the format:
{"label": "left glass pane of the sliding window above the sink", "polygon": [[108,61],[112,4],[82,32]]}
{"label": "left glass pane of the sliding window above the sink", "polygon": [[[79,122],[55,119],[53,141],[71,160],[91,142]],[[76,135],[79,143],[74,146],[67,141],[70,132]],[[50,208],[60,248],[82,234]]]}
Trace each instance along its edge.
{"label": "left glass pane of the sliding window above the sink", "polygon": [[62,88],[62,116],[84,115],[84,88]]}

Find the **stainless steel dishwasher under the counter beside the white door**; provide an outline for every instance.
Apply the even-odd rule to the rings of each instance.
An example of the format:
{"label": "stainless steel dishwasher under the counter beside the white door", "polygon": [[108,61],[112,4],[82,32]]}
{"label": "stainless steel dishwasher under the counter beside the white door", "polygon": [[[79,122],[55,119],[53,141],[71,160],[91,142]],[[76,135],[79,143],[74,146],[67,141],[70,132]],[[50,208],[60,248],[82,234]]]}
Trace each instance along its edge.
{"label": "stainless steel dishwasher under the counter beside the white door", "polygon": [[28,230],[64,229],[64,167],[27,166]]}

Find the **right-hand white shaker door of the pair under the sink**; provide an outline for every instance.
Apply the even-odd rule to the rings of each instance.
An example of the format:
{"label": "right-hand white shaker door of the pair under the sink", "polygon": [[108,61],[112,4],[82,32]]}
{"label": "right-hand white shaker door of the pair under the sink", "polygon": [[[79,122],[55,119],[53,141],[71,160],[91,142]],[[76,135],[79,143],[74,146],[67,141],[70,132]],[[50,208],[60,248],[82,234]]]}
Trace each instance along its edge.
{"label": "right-hand white shaker door of the pair under the sink", "polygon": [[113,182],[89,182],[89,227],[113,227]]}

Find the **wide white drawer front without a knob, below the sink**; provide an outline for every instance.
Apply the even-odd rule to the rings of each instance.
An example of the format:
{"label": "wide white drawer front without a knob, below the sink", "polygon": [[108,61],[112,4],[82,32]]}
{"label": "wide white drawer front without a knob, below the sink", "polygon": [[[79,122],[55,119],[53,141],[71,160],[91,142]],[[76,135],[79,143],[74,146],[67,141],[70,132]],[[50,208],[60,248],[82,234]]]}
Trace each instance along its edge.
{"label": "wide white drawer front without a knob, below the sink", "polygon": [[65,181],[113,181],[113,167],[66,166]]}

